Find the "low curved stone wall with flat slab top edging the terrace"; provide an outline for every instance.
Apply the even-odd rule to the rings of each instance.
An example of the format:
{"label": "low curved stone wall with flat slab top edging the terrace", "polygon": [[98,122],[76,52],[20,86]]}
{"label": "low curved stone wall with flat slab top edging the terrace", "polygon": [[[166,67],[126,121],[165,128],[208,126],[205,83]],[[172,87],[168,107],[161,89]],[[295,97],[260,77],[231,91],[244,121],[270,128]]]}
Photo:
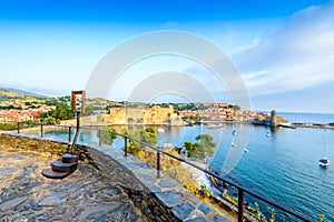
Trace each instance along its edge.
{"label": "low curved stone wall with flat slab top edging the terrace", "polygon": [[[2,148],[27,149],[61,155],[69,151],[66,140],[41,139],[18,134],[0,134]],[[200,199],[161,175],[154,168],[121,150],[79,143],[77,153],[110,180],[117,181],[149,221],[229,221]]]}

